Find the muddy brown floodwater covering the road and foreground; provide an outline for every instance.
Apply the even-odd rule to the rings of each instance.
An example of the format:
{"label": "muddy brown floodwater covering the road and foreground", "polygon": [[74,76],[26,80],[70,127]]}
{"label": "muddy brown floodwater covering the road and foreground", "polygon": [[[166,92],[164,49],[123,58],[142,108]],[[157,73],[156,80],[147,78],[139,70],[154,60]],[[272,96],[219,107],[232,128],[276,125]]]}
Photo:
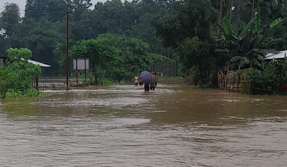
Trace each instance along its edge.
{"label": "muddy brown floodwater covering the road and foreground", "polygon": [[286,166],[287,97],[184,85],[0,100],[1,167]]}

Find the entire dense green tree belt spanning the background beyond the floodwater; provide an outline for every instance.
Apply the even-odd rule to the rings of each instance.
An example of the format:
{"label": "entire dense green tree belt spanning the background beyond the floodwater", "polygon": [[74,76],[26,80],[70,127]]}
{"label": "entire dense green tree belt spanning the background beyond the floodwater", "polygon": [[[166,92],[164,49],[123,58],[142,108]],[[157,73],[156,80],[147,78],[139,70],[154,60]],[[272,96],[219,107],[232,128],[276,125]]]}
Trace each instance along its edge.
{"label": "entire dense green tree belt spanning the background beyond the floodwater", "polygon": [[[167,77],[194,76],[196,84],[216,86],[218,68],[228,66],[248,73],[254,86],[278,91],[287,78],[283,74],[280,80],[270,78],[268,67],[277,63],[285,68],[285,60],[265,62],[263,58],[287,49],[286,3],[111,0],[91,9],[90,0],[27,0],[25,11],[13,3],[2,9],[0,54],[9,47],[29,48],[33,59],[52,65],[51,70],[43,70],[44,75],[63,75],[64,11],[72,11],[70,57],[91,59],[95,84],[130,80],[133,73],[151,70]],[[255,73],[263,79],[255,82]]]}

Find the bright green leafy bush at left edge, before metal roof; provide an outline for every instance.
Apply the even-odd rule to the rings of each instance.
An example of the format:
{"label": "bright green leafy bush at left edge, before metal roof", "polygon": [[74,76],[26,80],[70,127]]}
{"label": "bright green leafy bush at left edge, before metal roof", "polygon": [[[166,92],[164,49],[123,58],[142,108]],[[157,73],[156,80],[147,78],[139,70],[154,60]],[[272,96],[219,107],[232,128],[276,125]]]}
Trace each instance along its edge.
{"label": "bright green leafy bush at left edge, before metal roof", "polygon": [[[32,57],[31,50],[27,48],[13,49],[6,51],[8,57],[6,66],[0,67],[0,93],[6,96],[7,92],[25,91],[32,87],[35,77],[41,73],[39,65],[28,63]],[[24,95],[26,95],[24,93]]]}

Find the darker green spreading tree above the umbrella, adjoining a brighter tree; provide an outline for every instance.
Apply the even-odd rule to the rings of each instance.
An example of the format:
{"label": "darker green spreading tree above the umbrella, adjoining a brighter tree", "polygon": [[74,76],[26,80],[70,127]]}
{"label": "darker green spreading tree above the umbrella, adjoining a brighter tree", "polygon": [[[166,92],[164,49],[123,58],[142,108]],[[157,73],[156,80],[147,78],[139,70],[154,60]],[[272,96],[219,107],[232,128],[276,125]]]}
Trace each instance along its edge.
{"label": "darker green spreading tree above the umbrella, adjoining a brighter tree", "polygon": [[[100,34],[97,40],[105,41],[110,47],[115,47],[120,52],[122,59],[120,67],[113,72],[115,80],[127,80],[135,73],[144,70],[153,70],[154,62],[170,59],[155,53],[148,52],[149,44],[140,39],[128,38],[124,35]],[[111,74],[112,75],[112,74]]]}

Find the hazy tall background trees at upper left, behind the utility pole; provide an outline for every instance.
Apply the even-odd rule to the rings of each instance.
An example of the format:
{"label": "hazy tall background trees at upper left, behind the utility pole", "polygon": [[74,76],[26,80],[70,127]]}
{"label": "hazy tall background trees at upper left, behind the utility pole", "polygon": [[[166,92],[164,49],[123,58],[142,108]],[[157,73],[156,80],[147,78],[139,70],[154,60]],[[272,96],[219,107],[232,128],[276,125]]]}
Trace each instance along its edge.
{"label": "hazy tall background trees at upper left, behind the utility pole", "polygon": [[[59,55],[53,50],[58,43],[65,42],[64,11],[72,11],[68,32],[72,41],[95,39],[105,33],[123,34],[143,40],[150,46],[146,51],[161,55],[165,48],[150,22],[157,14],[165,15],[172,3],[173,0],[111,0],[93,5],[91,0],[27,0],[22,18],[19,6],[7,3],[0,14],[0,29],[3,32],[0,33],[0,54],[4,55],[9,46],[29,48],[33,52],[33,60],[52,66],[43,69],[43,75],[65,74],[65,64],[58,63]],[[91,6],[95,9],[92,10]]]}

